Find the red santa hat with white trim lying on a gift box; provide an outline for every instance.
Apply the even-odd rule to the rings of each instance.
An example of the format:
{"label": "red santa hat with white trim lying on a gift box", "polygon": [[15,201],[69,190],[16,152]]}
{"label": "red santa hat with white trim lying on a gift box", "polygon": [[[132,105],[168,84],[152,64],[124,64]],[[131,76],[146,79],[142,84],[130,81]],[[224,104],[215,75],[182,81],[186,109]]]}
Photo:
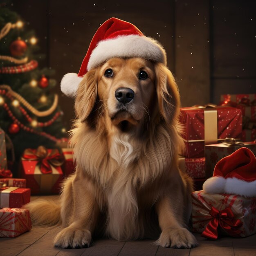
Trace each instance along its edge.
{"label": "red santa hat with white trim lying on a gift box", "polygon": [[222,158],[215,166],[213,177],[203,184],[209,194],[226,193],[256,196],[256,157],[248,148],[239,148]]}

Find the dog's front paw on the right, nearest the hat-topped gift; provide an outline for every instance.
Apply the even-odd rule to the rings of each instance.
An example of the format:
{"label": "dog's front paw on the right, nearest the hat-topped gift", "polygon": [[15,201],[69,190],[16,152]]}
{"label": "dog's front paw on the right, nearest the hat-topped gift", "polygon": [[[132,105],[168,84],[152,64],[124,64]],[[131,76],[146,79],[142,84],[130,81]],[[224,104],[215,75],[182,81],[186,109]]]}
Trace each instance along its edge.
{"label": "dog's front paw on the right, nearest the hat-topped gift", "polygon": [[185,228],[164,229],[157,240],[157,245],[178,249],[193,248],[198,245],[195,237]]}

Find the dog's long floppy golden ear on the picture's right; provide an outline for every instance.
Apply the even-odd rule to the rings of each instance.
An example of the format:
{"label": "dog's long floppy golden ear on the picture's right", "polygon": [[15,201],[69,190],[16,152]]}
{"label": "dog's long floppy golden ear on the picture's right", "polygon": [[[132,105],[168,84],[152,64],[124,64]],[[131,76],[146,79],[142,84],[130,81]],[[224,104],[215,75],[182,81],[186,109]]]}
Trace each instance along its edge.
{"label": "dog's long floppy golden ear on the picture's right", "polygon": [[162,63],[155,64],[156,91],[159,112],[167,124],[177,120],[180,113],[180,94],[177,84],[168,68]]}

